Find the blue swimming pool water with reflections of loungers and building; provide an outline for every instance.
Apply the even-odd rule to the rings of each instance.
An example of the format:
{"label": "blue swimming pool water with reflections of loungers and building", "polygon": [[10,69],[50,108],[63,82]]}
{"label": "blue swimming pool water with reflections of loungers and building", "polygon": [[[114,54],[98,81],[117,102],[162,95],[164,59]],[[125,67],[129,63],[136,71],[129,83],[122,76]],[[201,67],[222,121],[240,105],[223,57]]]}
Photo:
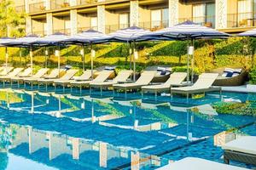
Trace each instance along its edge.
{"label": "blue swimming pool water with reflections of loungers and building", "polygon": [[223,162],[222,144],[256,136],[256,94],[161,95],[158,102],[129,95],[2,88],[0,169],[155,169],[187,156]]}

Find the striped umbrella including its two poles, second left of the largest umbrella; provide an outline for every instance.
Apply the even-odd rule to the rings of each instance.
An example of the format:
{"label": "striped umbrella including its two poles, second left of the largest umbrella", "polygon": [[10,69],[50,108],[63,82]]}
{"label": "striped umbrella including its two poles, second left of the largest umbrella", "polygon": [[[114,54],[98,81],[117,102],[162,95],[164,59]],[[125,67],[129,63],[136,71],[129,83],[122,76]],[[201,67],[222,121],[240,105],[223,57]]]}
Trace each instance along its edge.
{"label": "striped umbrella including its two poles, second left of the largest umbrella", "polygon": [[[78,44],[81,45],[82,48],[84,49],[84,45],[90,45],[90,50],[91,50],[91,57],[90,57],[90,67],[91,67],[91,79],[93,79],[93,58],[95,55],[95,51],[92,48],[92,44],[95,43],[102,43],[102,42],[109,42],[113,38],[112,36],[108,36],[103,34],[100,31],[95,31],[95,30],[87,30],[87,31],[82,31],[81,33],[68,37],[65,40],[62,40],[61,43],[66,43],[66,44]],[[84,50],[82,53],[82,59],[83,59],[83,70],[84,70]]]}

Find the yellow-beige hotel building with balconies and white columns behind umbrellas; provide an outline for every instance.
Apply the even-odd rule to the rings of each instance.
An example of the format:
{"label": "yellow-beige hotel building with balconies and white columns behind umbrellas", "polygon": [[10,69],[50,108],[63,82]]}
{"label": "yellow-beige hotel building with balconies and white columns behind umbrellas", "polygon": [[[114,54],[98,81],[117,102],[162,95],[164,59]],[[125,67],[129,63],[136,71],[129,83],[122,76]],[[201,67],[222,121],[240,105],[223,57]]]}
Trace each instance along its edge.
{"label": "yellow-beige hotel building with balconies and white columns behind umbrellas", "polygon": [[73,35],[95,29],[110,33],[128,26],[151,31],[185,20],[236,33],[256,25],[255,0],[15,0],[25,11],[26,33]]}

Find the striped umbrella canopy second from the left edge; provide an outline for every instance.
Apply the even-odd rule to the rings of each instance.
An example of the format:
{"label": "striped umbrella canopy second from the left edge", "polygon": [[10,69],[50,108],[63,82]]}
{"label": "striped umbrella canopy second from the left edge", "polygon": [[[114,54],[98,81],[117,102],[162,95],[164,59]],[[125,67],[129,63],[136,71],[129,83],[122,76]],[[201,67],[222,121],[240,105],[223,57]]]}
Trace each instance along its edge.
{"label": "striped umbrella canopy second from the left edge", "polygon": [[31,42],[33,46],[57,46],[60,42],[67,40],[69,36],[61,32],[56,32],[55,34],[39,37],[36,41]]}

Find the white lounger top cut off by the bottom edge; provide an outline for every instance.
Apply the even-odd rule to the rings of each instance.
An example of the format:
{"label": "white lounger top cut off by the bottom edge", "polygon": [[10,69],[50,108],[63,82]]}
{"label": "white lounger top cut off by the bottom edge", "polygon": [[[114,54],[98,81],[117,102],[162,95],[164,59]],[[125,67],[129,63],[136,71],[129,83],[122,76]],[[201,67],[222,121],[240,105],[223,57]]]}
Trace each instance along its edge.
{"label": "white lounger top cut off by the bottom edge", "polygon": [[216,161],[208,161],[201,158],[187,157],[180,161],[175,161],[160,167],[157,170],[248,170],[243,167],[235,167],[218,163]]}

